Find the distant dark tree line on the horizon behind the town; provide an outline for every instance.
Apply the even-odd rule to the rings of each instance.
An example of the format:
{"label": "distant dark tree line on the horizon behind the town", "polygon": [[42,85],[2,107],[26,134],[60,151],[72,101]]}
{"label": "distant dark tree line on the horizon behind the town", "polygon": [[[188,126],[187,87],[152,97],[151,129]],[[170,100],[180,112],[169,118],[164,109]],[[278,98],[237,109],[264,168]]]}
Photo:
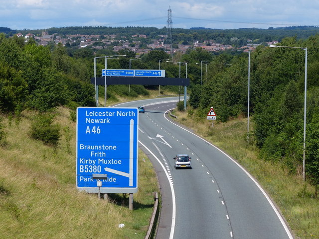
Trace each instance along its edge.
{"label": "distant dark tree line on the horizon behind the town", "polygon": [[[193,42],[215,41],[225,45],[244,46],[247,40],[252,40],[252,43],[263,43],[270,41],[281,41],[284,37],[297,36],[298,39],[307,39],[311,35],[318,33],[319,28],[316,26],[291,26],[291,27],[270,27],[268,29],[261,28],[240,28],[240,29],[210,29],[210,28],[173,28],[172,29],[172,43],[190,45]],[[52,27],[46,29],[52,35],[57,33],[60,36],[66,35],[116,35],[119,37],[126,37],[132,40],[133,35],[146,35],[144,39],[146,42],[152,42],[153,39],[160,39],[165,37],[167,28],[156,27],[108,27],[108,26],[73,26],[73,27]],[[0,32],[13,36],[21,32],[22,34],[33,33],[41,36],[43,29],[38,30],[12,30],[7,27],[0,27]],[[237,39],[235,42],[232,39]]]}

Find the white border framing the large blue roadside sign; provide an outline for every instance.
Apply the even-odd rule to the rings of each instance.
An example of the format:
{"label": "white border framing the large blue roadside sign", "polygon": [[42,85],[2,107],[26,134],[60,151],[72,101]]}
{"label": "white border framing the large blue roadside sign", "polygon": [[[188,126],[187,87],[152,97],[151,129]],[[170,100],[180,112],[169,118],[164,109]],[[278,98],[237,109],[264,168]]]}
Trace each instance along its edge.
{"label": "white border framing the large blue roadside sign", "polygon": [[[87,193],[99,193],[98,187],[78,187],[78,109],[87,108],[87,109],[110,109],[110,107],[78,107],[76,109],[76,157],[75,157],[75,183],[79,191],[85,191]],[[112,109],[136,109],[137,110],[137,141],[136,141],[136,187],[100,187],[100,193],[137,193],[138,192],[138,182],[139,182],[139,112],[136,107],[111,107]]]}

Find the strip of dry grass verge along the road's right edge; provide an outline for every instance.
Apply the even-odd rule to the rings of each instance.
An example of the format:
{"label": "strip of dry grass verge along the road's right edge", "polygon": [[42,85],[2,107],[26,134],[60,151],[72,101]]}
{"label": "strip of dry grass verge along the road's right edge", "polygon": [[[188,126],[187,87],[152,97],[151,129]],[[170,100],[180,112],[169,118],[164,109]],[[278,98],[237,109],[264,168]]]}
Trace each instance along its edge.
{"label": "strip of dry grass verge along the road's right edge", "polygon": [[[175,111],[177,122],[219,147],[243,165],[269,193],[294,234],[300,239],[319,239],[319,199],[315,188],[304,183],[302,175],[291,174],[280,162],[258,159],[258,149],[248,144],[247,119],[226,123],[194,121],[187,112]],[[250,124],[253,130],[253,123]],[[253,137],[250,139],[253,141]]]}

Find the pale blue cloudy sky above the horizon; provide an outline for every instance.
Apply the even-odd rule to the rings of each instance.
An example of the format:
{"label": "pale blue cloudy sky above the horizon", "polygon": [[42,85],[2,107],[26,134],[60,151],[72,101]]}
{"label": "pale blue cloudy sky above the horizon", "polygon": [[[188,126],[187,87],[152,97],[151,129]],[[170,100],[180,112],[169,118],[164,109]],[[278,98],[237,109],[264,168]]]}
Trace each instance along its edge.
{"label": "pale blue cloudy sky above the horizon", "polygon": [[0,0],[0,27],[167,26],[213,29],[319,26],[319,0]]}

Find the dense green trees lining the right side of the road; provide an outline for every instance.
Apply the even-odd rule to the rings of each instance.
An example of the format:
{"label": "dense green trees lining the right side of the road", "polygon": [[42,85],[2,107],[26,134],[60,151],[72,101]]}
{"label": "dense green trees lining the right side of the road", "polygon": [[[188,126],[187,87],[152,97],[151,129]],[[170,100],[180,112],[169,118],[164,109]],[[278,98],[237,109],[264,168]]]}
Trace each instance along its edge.
{"label": "dense green trees lining the right side of the road", "polygon": [[[282,46],[308,48],[306,176],[319,184],[319,35],[285,38]],[[192,88],[189,103],[202,118],[214,107],[220,121],[248,113],[248,54],[224,52],[208,65],[203,85]],[[305,50],[258,47],[251,53],[250,113],[260,157],[301,172],[304,134]]]}

